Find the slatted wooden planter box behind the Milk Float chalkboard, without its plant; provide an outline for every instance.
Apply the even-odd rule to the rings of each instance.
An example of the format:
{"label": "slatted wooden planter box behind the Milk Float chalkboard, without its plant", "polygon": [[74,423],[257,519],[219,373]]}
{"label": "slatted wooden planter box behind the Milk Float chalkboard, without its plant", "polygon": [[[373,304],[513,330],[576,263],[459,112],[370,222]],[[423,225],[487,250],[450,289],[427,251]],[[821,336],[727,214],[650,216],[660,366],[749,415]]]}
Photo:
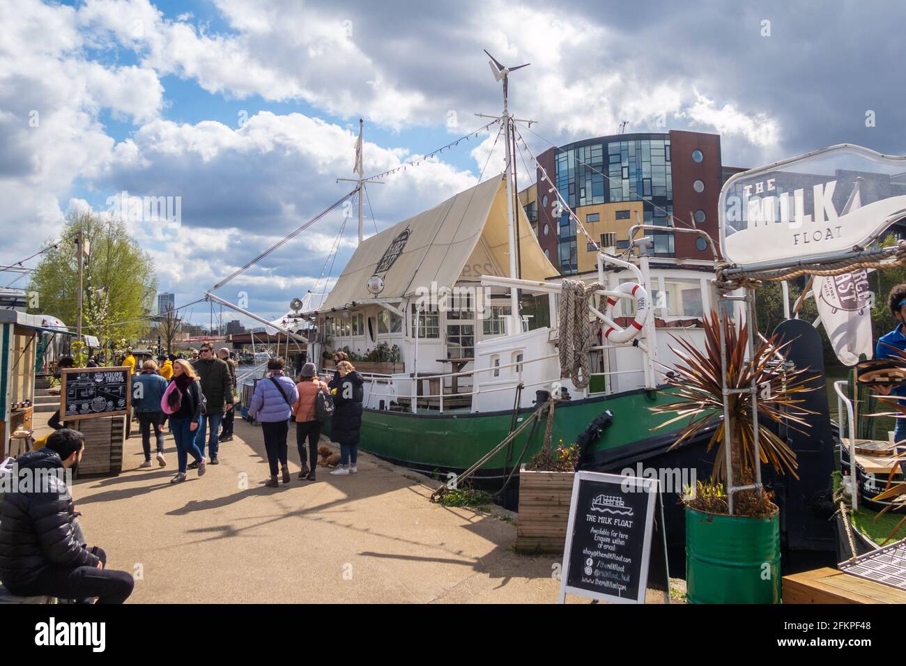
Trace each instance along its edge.
{"label": "slatted wooden planter box behind the Milk Float chalkboard, without its plant", "polygon": [[574,472],[519,469],[517,553],[564,552]]}

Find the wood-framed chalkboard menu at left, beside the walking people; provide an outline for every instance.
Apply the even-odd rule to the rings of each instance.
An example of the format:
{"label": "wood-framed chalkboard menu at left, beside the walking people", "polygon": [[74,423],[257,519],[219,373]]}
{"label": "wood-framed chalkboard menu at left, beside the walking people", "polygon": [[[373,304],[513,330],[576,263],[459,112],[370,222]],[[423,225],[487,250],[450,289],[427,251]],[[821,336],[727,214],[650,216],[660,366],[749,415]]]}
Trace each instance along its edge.
{"label": "wood-framed chalkboard menu at left, beside the walking people", "polygon": [[121,368],[64,368],[60,388],[60,419],[93,419],[128,414],[132,375]]}

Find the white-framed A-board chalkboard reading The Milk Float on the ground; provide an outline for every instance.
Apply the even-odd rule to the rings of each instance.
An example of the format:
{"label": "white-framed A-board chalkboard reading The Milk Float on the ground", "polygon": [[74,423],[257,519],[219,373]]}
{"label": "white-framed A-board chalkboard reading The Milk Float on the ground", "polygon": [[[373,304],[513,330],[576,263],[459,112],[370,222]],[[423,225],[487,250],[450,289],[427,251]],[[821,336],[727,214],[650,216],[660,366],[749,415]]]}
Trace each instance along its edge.
{"label": "white-framed A-board chalkboard reading The Milk Float on the ground", "polygon": [[644,603],[655,478],[577,472],[566,527],[560,603],[566,593]]}

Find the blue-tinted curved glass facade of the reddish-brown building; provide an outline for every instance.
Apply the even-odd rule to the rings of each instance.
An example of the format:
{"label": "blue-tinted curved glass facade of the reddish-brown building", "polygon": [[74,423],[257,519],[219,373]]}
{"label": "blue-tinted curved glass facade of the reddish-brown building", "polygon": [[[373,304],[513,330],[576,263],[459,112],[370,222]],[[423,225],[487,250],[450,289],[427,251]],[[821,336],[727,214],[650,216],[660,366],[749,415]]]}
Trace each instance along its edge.
{"label": "blue-tinted curved glass facade of the reddish-brown building", "polygon": [[[555,151],[554,182],[570,208],[641,201],[645,224],[669,226],[673,215],[670,134],[622,134],[577,141]],[[545,208],[550,202],[541,202]],[[582,218],[582,217],[581,217]],[[635,221],[633,221],[633,224]],[[558,224],[558,260],[564,273],[579,269],[575,222]],[[654,233],[654,256],[674,256],[673,234]]]}

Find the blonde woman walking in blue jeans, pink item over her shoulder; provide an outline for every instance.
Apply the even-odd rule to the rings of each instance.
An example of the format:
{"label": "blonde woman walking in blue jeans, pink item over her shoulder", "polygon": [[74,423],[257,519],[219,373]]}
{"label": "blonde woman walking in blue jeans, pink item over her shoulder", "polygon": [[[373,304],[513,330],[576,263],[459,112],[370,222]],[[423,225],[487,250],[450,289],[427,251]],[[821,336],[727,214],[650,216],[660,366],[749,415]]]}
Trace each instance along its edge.
{"label": "blonde woman walking in blue jeans, pink item over her shoulder", "polygon": [[188,457],[195,458],[198,476],[202,477],[207,468],[205,454],[198,450],[195,434],[198,421],[201,420],[201,401],[203,393],[198,383],[198,375],[192,364],[185,359],[173,363],[173,379],[169,382],[165,394],[170,415],[170,430],[176,442],[178,470],[170,483],[182,483],[186,480]]}

